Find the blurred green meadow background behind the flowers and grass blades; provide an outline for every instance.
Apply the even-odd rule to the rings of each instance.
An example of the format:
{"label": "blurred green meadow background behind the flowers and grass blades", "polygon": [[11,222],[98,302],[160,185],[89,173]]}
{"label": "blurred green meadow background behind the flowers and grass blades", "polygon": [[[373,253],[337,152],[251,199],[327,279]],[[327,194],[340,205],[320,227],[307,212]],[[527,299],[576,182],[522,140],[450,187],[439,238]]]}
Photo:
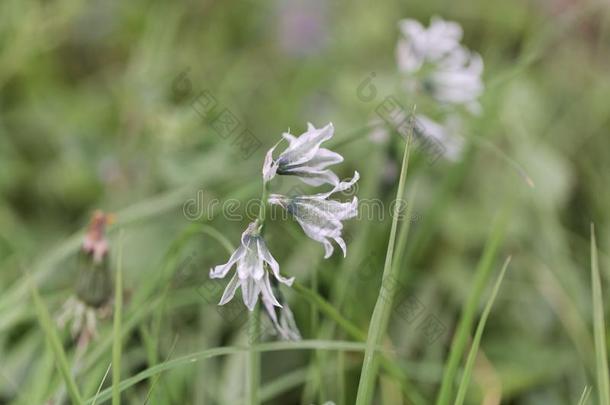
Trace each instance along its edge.
{"label": "blurred green meadow background behind the flowers and grass blades", "polygon": [[[508,255],[512,263],[468,401],[576,403],[594,381],[591,222],[604,291],[610,288],[609,14],[606,2],[570,0],[2,0],[0,403],[67,401],[26,275],[55,316],[73,294],[76,252],[95,209],[117,214],[113,270],[117,231],[124,232],[124,378],[188,353],[245,344],[240,318],[219,312],[217,297],[202,295],[201,286],[227,258],[210,229],[237,243],[248,219],[228,218],[210,202],[257,198],[265,152],[308,121],[333,122],[333,145],[345,157],[340,175],[358,170],[357,195],[384,201],[386,215],[348,223],[346,259],[324,260],[321,246],[291,221],[270,224],[268,243],[284,274],[304,285],[315,274],[319,293],[366,331],[404,148],[397,134],[371,139],[370,122],[383,97],[402,97],[397,22],[427,25],[433,15],[459,22],[464,43],[482,55],[483,114],[467,123],[470,142],[458,161],[431,165],[414,151],[397,300],[417,302],[442,327],[431,339],[419,320],[395,311],[388,345],[412,389],[432,403],[477,262],[504,220],[494,266]],[[372,72],[379,95],[367,102],[357,88]],[[202,92],[238,129],[219,132],[214,114],[197,111]],[[243,150],[244,130],[258,147]],[[242,203],[235,213],[244,211]],[[349,338],[284,292],[304,338]],[[112,321],[100,320],[98,329],[71,363],[86,398],[111,361]],[[74,360],[69,331],[58,333]],[[124,401],[241,403],[244,359],[182,364],[130,387]],[[264,403],[351,404],[361,363],[358,352],[265,353]],[[323,379],[312,377],[316,368]],[[383,374],[378,391],[377,403],[407,403]]]}

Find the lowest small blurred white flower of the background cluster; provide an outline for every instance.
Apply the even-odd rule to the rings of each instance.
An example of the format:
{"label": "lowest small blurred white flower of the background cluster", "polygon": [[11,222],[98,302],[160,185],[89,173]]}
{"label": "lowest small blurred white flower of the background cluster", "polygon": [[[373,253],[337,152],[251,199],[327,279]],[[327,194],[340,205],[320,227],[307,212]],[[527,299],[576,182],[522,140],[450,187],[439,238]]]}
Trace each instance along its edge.
{"label": "lowest small blurred white flower of the background cluster", "polygon": [[415,120],[415,135],[431,142],[431,145],[422,147],[422,149],[426,149],[432,154],[442,154],[449,160],[456,160],[459,157],[463,139],[458,134],[457,117],[451,117],[444,125],[421,114],[417,115]]}

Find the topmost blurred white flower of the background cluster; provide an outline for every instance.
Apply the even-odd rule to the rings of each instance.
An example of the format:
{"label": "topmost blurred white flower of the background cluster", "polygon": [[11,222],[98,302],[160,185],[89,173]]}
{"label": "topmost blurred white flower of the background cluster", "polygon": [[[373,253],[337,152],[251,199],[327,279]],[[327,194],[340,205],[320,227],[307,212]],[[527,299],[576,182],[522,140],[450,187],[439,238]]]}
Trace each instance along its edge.
{"label": "topmost blurred white flower of the background cluster", "polygon": [[460,47],[462,28],[459,24],[433,17],[430,27],[416,20],[399,22],[403,37],[398,41],[396,57],[402,72],[411,73],[424,63],[435,63]]}

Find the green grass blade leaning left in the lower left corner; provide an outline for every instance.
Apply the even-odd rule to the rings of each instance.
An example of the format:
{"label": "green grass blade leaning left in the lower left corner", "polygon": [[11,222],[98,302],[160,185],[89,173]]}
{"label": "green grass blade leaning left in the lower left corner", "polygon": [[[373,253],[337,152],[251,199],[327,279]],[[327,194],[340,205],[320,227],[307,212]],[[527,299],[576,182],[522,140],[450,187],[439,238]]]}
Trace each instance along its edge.
{"label": "green grass blade leaning left in the lower left corner", "polygon": [[59,340],[59,336],[57,335],[57,331],[55,330],[55,325],[53,324],[53,320],[51,319],[51,315],[49,315],[49,311],[45,307],[42,302],[42,298],[40,298],[40,294],[38,293],[38,288],[34,284],[33,280],[30,281],[30,289],[32,292],[32,298],[34,300],[34,306],[36,307],[36,314],[38,315],[38,321],[40,322],[40,326],[42,327],[47,342],[53,351],[53,355],[55,356],[55,361],[57,362],[57,369],[61,374],[61,377],[66,384],[66,389],[68,391],[68,395],[73,404],[82,404],[83,400],[80,392],[78,391],[78,387],[76,386],[76,382],[72,377],[72,373],[70,372],[70,366],[68,365],[68,359],[66,358],[66,353],[64,352],[64,348]]}

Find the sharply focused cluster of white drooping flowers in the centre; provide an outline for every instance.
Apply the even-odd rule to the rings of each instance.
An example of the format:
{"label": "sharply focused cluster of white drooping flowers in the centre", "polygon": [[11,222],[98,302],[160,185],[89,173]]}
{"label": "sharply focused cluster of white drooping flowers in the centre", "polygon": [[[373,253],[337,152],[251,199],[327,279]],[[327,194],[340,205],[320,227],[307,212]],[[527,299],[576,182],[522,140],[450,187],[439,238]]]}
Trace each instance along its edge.
{"label": "sharply focused cluster of white drooping flowers in the centre", "polygon": [[[320,146],[331,139],[333,133],[332,124],[323,128],[308,124],[307,131],[299,137],[283,134],[283,138],[288,141],[288,147],[277,158],[273,157],[273,153],[278,145],[271,148],[265,157],[262,173],[265,189],[266,184],[276,175],[296,176],[312,186],[333,186],[325,193],[300,196],[272,194],[263,201],[263,204],[275,204],[286,209],[308,237],[323,244],[325,258],[330,257],[334,251],[331,241],[335,241],[343,255],[346,255],[347,248],[341,237],[342,221],[355,217],[358,211],[357,197],[346,203],[330,199],[333,194],[352,187],[359,179],[358,172],[355,172],[351,180],[341,182],[339,177],[328,169],[328,166],[343,161],[343,157],[338,153]],[[237,288],[241,288],[243,302],[250,311],[254,310],[258,297],[261,296],[267,314],[280,336],[284,339],[298,339],[300,334],[292,312],[285,302],[280,302],[282,299],[277,299],[277,296],[281,297],[279,283],[291,286],[294,277],[285,278],[280,274],[280,266],[269,252],[262,236],[263,222],[264,219],[259,218],[250,223],[242,234],[241,245],[227,263],[210,270],[210,277],[224,278],[236,265],[237,271],[229,281],[219,305],[229,302],[235,296]],[[276,309],[280,310],[279,317]]]}

